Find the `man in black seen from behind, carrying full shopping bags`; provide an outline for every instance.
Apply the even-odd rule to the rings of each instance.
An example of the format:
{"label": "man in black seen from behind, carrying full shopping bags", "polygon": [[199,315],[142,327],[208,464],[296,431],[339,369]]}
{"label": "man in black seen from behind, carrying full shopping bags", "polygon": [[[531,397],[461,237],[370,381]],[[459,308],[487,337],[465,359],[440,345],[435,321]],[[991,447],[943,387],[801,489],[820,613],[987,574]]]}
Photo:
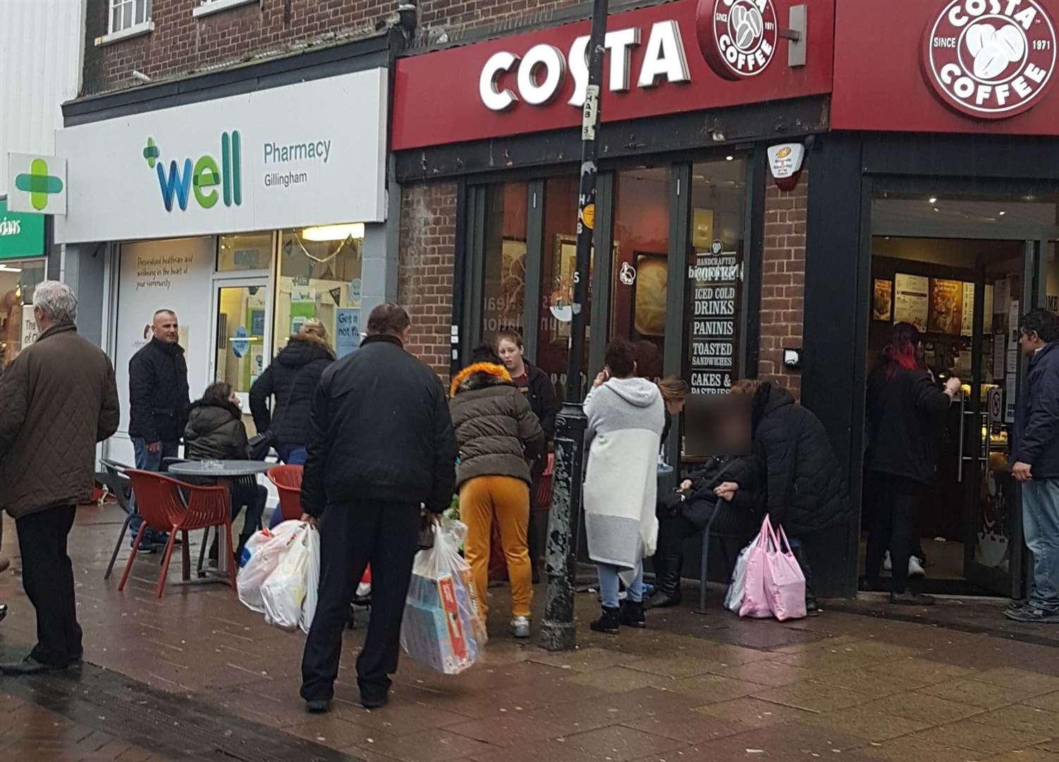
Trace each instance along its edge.
{"label": "man in black seen from behind, carrying full shopping bags", "polygon": [[319,519],[320,593],[301,691],[311,712],[330,704],[349,599],[369,563],[372,619],[357,681],[364,707],[387,703],[420,512],[437,515],[452,500],[448,401],[437,375],[405,351],[410,327],[398,305],[377,306],[360,349],[324,371],[312,401],[302,508],[304,520]]}

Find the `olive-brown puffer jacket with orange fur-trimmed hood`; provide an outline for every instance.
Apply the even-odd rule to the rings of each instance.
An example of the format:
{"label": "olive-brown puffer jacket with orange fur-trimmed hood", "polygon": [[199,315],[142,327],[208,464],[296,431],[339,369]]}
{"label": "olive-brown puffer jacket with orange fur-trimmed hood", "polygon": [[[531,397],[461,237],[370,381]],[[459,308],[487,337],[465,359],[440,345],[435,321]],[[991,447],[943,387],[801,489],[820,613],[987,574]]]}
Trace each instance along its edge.
{"label": "olive-brown puffer jacket with orange fur-trimmed hood", "polygon": [[452,427],[460,446],[456,486],[477,476],[531,483],[527,461],[544,451],[544,431],[503,366],[475,362],[452,379]]}

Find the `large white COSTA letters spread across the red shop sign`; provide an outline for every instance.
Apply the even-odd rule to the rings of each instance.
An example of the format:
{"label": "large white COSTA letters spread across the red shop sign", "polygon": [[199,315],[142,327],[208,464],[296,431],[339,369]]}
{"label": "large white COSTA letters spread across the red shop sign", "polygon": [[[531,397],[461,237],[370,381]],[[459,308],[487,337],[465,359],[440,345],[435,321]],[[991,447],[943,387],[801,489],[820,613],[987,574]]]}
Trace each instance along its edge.
{"label": "large white COSTA letters spread across the red shop sign", "polygon": [[[563,56],[555,46],[535,45],[525,55],[520,56],[500,51],[489,56],[479,76],[479,95],[486,108],[506,111],[521,99],[531,106],[551,103],[567,82],[569,60],[570,74],[574,77],[574,93],[568,103],[575,108],[585,105],[585,92],[589,82],[588,36],[578,37],[570,46],[568,56]],[[611,92],[631,88],[630,70],[632,51],[641,43],[641,31],[636,28],[608,32],[605,47],[609,54],[608,87]],[[515,74],[515,89],[510,87],[510,74]],[[656,87],[663,81],[668,83],[690,82],[684,41],[676,21],[657,21],[651,24],[644,48],[644,60],[636,76],[636,87]]]}

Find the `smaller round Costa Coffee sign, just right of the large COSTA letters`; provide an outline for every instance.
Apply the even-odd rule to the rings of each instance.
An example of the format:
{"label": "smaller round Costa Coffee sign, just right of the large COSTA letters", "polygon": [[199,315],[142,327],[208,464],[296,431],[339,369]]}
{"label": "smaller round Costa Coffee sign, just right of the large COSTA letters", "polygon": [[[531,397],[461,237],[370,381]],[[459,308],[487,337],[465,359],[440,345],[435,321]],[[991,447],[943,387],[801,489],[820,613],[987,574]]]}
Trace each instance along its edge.
{"label": "smaller round Costa Coffee sign, just right of the large COSTA letters", "polygon": [[710,68],[739,79],[769,66],[779,28],[772,0],[699,0],[696,32]]}

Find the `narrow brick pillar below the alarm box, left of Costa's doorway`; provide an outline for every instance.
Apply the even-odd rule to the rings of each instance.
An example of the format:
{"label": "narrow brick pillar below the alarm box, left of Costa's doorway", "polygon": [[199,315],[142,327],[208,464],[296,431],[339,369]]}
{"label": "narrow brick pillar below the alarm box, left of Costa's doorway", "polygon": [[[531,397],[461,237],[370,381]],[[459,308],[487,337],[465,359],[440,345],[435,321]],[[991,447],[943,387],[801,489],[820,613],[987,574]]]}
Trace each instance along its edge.
{"label": "narrow brick pillar below the alarm box, left of Costa's doorway", "polygon": [[805,305],[805,226],[809,177],[784,193],[771,178],[765,193],[761,254],[761,344],[758,377],[801,396],[802,376],[783,364],[783,350],[802,345]]}

